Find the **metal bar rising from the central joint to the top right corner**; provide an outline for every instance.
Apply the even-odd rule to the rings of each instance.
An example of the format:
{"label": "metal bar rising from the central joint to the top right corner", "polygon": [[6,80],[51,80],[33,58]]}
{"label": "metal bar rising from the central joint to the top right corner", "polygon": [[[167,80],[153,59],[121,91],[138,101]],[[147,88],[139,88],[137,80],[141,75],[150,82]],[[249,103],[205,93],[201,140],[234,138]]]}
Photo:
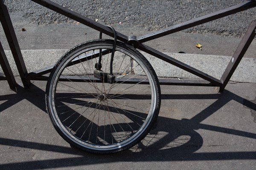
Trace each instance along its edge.
{"label": "metal bar rising from the central joint to the top right corner", "polygon": [[241,11],[250,9],[250,8],[255,7],[255,6],[256,6],[256,1],[255,0],[247,0],[244,3],[240,3],[238,5],[231,6],[227,9],[222,9],[218,12],[213,12],[212,14],[207,14],[207,15],[204,15],[202,17],[198,17],[198,18],[195,18],[195,19],[192,19],[192,20],[188,20],[184,23],[179,23],[177,25],[170,26],[166,29],[161,29],[159,31],[151,32],[151,33],[148,33],[146,35],[141,35],[141,36],[137,37],[137,40],[140,43],[144,43],[144,42],[147,42],[149,40],[154,40],[156,38],[163,37],[165,35],[169,35],[169,34],[172,34],[174,32],[184,30],[184,29],[188,29],[188,28],[191,28],[193,26],[200,25],[202,23],[207,23],[209,21],[216,20],[216,19],[219,19],[221,17],[226,17],[228,15],[235,14],[237,12],[241,12]]}

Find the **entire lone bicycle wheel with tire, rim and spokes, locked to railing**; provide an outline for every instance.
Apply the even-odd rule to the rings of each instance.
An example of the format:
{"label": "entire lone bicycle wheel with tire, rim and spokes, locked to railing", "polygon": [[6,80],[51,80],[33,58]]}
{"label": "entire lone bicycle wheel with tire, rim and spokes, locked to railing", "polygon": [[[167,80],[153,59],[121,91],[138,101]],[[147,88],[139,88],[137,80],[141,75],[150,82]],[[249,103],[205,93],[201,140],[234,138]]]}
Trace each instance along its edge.
{"label": "entire lone bicycle wheel with tire, rim and spokes, locked to railing", "polygon": [[[91,153],[134,146],[148,134],[160,109],[160,86],[150,63],[117,42],[110,75],[112,48],[113,40],[92,40],[70,49],[47,82],[47,111],[55,129]],[[100,70],[95,68],[99,56]]]}

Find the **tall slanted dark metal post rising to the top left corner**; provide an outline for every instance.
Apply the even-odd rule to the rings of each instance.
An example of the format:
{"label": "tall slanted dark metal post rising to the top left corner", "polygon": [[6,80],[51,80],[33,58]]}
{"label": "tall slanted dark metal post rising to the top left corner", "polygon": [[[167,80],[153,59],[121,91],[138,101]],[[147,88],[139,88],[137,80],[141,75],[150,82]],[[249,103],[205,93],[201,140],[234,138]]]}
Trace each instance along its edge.
{"label": "tall slanted dark metal post rising to the top left corner", "polygon": [[2,1],[0,1],[0,20],[3,26],[3,31],[5,32],[7,41],[12,51],[12,55],[16,63],[18,72],[20,74],[23,86],[25,88],[29,88],[30,81],[26,79],[27,69],[20,51],[20,46],[15,35],[14,28],[12,26],[12,21],[7,10],[7,7],[3,4]]}

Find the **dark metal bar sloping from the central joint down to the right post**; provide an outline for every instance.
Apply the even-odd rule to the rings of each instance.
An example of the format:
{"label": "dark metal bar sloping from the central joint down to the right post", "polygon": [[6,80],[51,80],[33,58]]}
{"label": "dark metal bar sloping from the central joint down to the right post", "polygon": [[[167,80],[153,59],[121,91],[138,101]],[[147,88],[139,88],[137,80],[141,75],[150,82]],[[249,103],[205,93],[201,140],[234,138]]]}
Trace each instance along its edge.
{"label": "dark metal bar sloping from the central joint down to the right post", "polygon": [[138,49],[150,54],[150,55],[153,55],[163,61],[166,61],[168,63],[171,63],[173,64],[174,66],[177,66],[179,67],[180,69],[183,69],[183,70],[186,70],[187,72],[190,72],[194,75],[197,75],[198,77],[200,78],[203,78],[204,80],[207,80],[213,84],[216,84],[216,86],[219,86],[222,84],[222,82],[220,80],[218,80],[217,78],[214,78],[210,75],[207,75],[206,73],[204,72],[201,72],[200,70],[198,69],[195,69],[193,68],[192,66],[189,66],[181,61],[178,61],[176,60],[175,58],[172,58],[170,57],[169,55],[166,55],[162,52],[159,52],[157,51],[156,49],[153,49],[149,46],[146,46],[145,44],[140,44],[140,46],[138,47]]}

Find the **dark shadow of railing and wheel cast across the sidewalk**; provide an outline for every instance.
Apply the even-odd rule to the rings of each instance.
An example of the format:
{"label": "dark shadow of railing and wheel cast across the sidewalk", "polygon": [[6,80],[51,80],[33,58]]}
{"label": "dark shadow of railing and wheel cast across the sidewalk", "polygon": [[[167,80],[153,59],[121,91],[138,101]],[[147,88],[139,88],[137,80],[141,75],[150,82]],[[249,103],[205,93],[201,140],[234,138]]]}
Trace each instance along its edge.
{"label": "dark shadow of railing and wheel cast across the sidewalk", "polygon": [[[16,94],[2,95],[0,112],[13,106],[19,101],[26,99],[36,107],[44,110],[44,91],[35,85],[30,89],[17,88]],[[54,158],[37,161],[25,161],[18,163],[1,164],[0,169],[40,169],[56,167],[72,167],[89,164],[102,164],[119,161],[204,161],[204,160],[245,160],[255,159],[256,152],[216,152],[216,153],[198,153],[203,146],[203,138],[196,131],[198,129],[211,130],[226,134],[243,136],[256,139],[256,134],[240,130],[233,130],[224,127],[202,124],[201,121],[211,116],[218,109],[223,107],[231,100],[235,100],[244,107],[256,110],[256,104],[247,99],[224,90],[222,94],[206,95],[162,95],[163,99],[217,99],[209,107],[199,112],[191,119],[177,120],[159,116],[157,124],[150,133],[137,146],[132,147],[122,153],[109,155],[95,155],[85,153],[71,147],[56,146],[52,144],[42,144],[29,141],[21,141],[8,138],[0,138],[0,144],[12,147],[22,147],[32,150],[42,150],[60,154],[72,154],[70,158]],[[35,100],[36,99],[36,100]]]}

